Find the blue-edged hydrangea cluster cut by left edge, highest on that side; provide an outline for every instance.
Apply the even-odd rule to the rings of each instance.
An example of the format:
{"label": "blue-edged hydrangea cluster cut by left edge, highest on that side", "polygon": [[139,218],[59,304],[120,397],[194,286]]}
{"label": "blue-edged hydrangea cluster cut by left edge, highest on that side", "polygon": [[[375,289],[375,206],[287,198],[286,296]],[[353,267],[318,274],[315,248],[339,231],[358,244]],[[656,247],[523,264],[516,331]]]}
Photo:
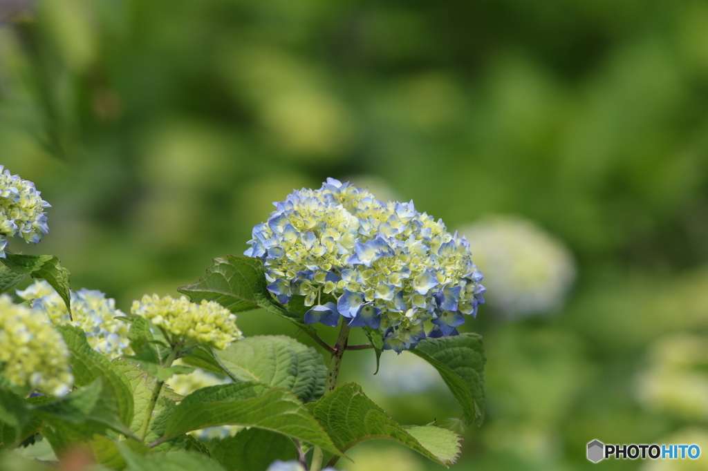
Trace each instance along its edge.
{"label": "blue-edged hydrangea cluster cut by left edge, highest on that side", "polygon": [[18,236],[38,243],[49,232],[45,208],[35,184],[11,175],[0,165],[0,258],[5,257],[6,237]]}

